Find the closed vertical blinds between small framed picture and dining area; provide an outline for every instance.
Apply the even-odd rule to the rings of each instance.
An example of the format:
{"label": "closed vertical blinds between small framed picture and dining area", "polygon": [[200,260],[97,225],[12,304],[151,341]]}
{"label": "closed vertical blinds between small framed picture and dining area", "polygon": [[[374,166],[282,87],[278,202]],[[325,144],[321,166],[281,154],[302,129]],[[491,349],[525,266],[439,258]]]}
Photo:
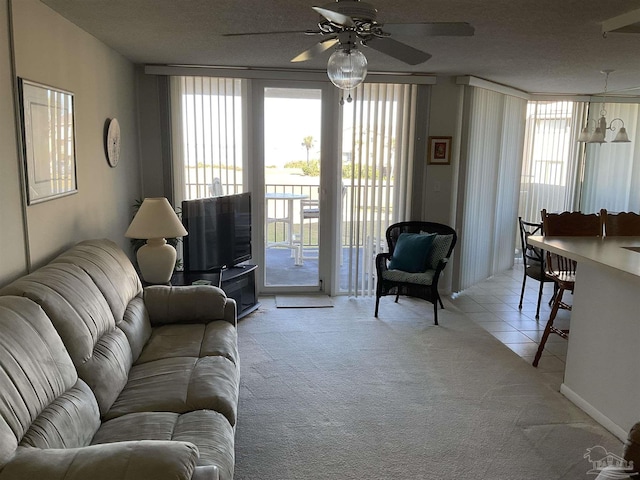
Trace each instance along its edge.
{"label": "closed vertical blinds between small framed picture and dining area", "polygon": [[527,102],[465,87],[458,203],[460,291],[513,265]]}

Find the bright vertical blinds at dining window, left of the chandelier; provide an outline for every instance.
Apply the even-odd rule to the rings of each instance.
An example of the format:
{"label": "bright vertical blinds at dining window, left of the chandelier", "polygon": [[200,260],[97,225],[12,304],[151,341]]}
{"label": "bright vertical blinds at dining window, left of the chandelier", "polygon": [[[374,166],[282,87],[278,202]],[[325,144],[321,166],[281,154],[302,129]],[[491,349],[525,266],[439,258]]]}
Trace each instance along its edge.
{"label": "bright vertical blinds at dining window, left of the chandelier", "polygon": [[577,142],[586,104],[530,101],[520,180],[518,215],[539,222],[540,212],[573,210],[580,174],[582,144]]}

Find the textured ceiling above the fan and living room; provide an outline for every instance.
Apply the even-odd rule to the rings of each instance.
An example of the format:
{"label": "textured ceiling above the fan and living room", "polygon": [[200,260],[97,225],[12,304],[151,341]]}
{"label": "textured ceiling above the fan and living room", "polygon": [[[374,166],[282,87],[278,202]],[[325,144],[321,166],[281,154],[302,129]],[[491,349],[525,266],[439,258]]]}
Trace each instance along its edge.
{"label": "textured ceiling above the fan and living room", "polygon": [[[314,0],[41,0],[139,64],[318,70],[329,52],[289,60],[318,41],[304,34],[225,33],[313,29]],[[609,91],[640,94],[640,34],[601,24],[636,10],[637,0],[371,0],[381,23],[468,22],[472,37],[400,37],[433,57],[410,67],[364,48],[370,71],[473,75],[530,93],[595,94],[604,69]],[[634,88],[639,88],[633,90]],[[632,90],[629,90],[632,89]]]}

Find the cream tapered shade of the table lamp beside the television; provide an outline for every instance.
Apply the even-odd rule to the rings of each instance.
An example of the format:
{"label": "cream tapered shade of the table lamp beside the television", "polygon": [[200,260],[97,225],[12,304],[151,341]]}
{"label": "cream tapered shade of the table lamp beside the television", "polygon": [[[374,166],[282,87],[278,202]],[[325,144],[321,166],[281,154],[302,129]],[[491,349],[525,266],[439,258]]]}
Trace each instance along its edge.
{"label": "cream tapered shade of the table lamp beside the television", "polygon": [[124,234],[127,238],[174,238],[187,235],[169,201],[164,197],[145,198]]}

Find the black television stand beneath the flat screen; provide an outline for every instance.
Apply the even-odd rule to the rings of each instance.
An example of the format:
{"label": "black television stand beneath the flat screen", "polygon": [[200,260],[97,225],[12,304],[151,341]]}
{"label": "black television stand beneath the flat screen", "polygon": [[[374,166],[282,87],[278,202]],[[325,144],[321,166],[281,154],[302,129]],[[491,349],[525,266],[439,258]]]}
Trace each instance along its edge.
{"label": "black television stand beneath the flat screen", "polygon": [[198,280],[207,280],[236,301],[238,319],[241,319],[260,306],[256,289],[257,268],[257,265],[237,265],[222,272],[176,272],[171,277],[171,284],[192,285]]}

